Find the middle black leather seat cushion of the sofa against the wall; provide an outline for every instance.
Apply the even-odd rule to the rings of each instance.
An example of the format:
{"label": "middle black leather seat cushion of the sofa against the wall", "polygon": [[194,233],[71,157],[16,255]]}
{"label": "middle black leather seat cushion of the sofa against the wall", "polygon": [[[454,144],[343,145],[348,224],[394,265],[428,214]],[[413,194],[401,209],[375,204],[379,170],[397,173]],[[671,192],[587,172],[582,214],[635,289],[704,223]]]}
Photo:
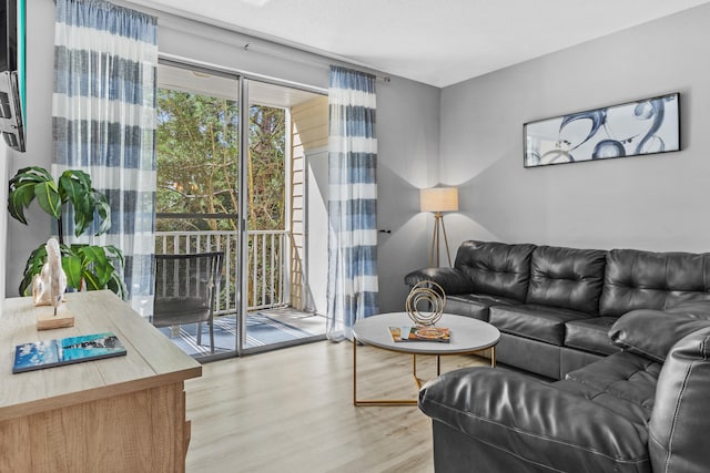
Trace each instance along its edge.
{"label": "middle black leather seat cushion of the sofa against the wall", "polygon": [[565,323],[587,318],[588,313],[576,310],[524,304],[494,306],[488,321],[503,332],[561,347],[565,342]]}

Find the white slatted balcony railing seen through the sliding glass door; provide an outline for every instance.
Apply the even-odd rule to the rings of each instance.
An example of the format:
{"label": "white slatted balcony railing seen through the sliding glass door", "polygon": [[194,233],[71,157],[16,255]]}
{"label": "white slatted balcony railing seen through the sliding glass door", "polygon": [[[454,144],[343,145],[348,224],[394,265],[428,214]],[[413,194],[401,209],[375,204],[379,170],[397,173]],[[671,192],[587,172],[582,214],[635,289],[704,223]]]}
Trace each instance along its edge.
{"label": "white slatted balcony railing seen through the sliding glass door", "polygon": [[[160,217],[174,218],[174,217]],[[286,277],[286,230],[247,232],[247,310],[284,307],[288,305]],[[237,233],[234,230],[156,232],[156,254],[185,254],[224,251],[222,286],[216,302],[216,315],[236,313],[239,259]]]}

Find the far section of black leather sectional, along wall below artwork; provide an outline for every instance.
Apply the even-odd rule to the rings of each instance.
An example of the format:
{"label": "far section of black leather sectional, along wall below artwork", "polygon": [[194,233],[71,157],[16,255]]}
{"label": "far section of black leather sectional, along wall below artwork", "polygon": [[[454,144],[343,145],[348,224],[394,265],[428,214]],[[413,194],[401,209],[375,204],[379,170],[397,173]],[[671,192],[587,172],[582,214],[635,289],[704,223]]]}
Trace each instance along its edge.
{"label": "far section of black leather sectional, along wall below artwork", "polygon": [[465,241],[453,268],[409,273],[434,280],[447,313],[500,330],[497,360],[551,379],[619,351],[611,325],[635,309],[710,301],[710,255]]}

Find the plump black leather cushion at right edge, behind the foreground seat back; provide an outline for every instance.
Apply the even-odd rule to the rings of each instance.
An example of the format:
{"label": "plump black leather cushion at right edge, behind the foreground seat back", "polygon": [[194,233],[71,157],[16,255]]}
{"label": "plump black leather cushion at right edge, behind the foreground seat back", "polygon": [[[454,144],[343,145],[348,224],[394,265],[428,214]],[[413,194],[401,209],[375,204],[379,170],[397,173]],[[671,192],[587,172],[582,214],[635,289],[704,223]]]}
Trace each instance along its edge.
{"label": "plump black leather cushion at right edge, behind the foreground seat back", "polygon": [[710,320],[639,309],[617,319],[609,330],[609,338],[626,351],[662,363],[680,339],[703,328],[710,328]]}

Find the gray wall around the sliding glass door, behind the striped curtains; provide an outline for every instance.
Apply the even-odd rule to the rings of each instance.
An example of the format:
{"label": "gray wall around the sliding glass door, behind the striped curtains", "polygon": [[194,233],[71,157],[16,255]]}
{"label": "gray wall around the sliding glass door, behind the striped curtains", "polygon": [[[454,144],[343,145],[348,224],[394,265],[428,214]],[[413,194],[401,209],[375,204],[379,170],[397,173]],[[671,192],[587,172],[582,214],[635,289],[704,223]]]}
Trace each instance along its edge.
{"label": "gray wall around the sliding glass door, behind the striped curtains", "polygon": [[[126,2],[116,3],[136,8]],[[23,166],[49,167],[51,164],[54,6],[51,1],[28,2],[27,18],[28,151],[10,158],[10,175]],[[276,45],[268,45],[276,54],[260,52],[257,47],[244,51],[241,45],[247,40],[233,32],[159,14],[159,49],[162,54],[327,88],[328,69],[325,63],[318,64],[307,53]],[[262,44],[258,41],[254,43]],[[428,260],[426,226],[419,225],[424,220],[417,210],[415,187],[436,183],[429,182],[429,176],[438,162],[439,93],[437,88],[399,78],[393,78],[388,83],[377,81],[378,218],[381,227],[392,230],[392,234],[383,234],[386,236],[382,237],[379,248],[383,310],[403,310],[406,297],[403,275],[410,267],[424,266]],[[326,183],[321,186],[327,188]],[[33,208],[28,213],[28,219],[29,227],[13,219],[8,223],[4,268],[8,297],[18,294],[30,251],[45,241],[50,234],[49,218],[41,210]]]}

